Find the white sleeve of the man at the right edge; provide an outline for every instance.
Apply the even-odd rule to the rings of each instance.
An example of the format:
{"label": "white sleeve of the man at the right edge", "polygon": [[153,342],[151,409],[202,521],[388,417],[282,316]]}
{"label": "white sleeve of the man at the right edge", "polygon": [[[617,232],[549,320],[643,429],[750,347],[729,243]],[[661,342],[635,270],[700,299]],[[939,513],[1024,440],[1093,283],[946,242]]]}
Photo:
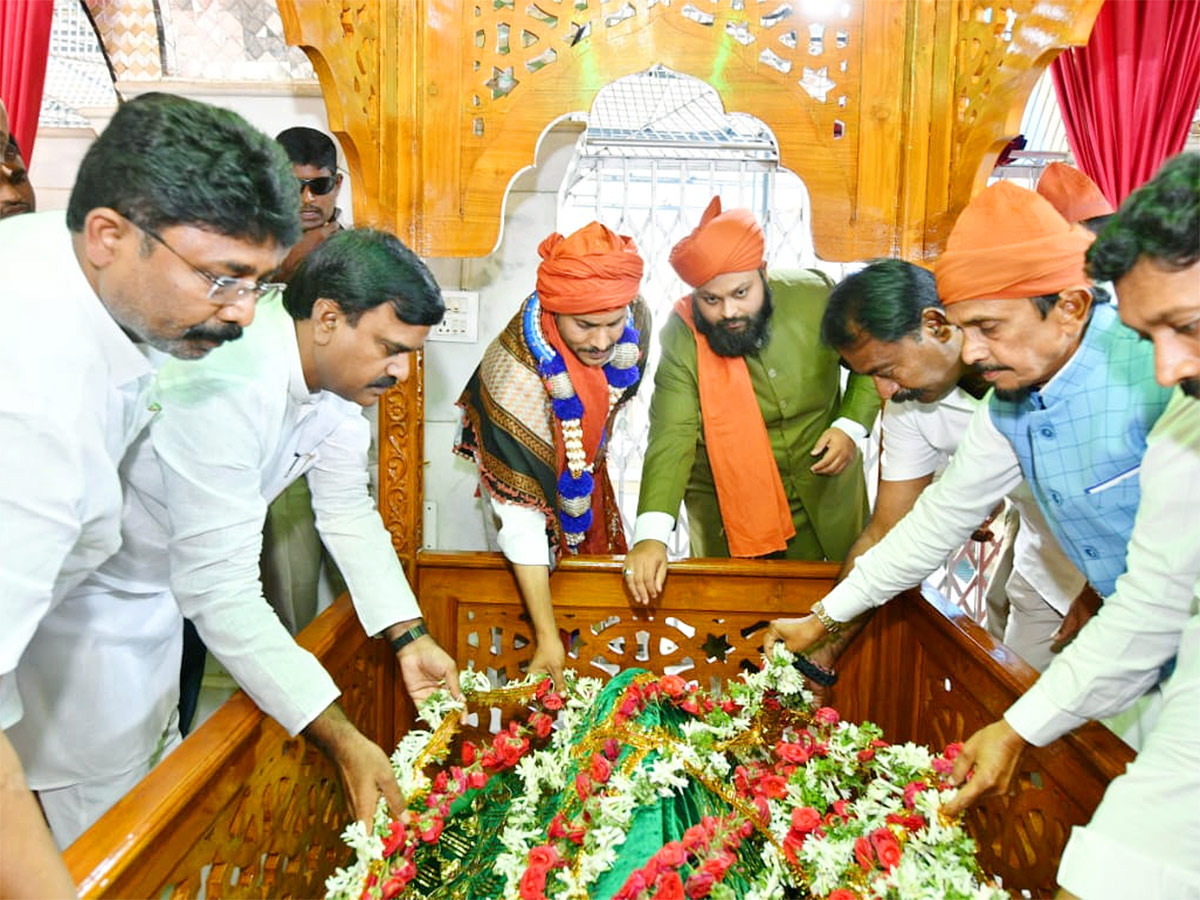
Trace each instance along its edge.
{"label": "white sleeve of the man at the right edge", "polygon": [[[1176,390],[1147,438],[1141,500],[1126,572],[1099,613],[1018,700],[1004,719],[1044,746],[1090,719],[1128,707],[1159,679],[1200,612],[1200,401]],[[1192,650],[1200,649],[1195,640]],[[1200,674],[1181,654],[1176,678]],[[1198,732],[1200,734],[1200,732]]]}

